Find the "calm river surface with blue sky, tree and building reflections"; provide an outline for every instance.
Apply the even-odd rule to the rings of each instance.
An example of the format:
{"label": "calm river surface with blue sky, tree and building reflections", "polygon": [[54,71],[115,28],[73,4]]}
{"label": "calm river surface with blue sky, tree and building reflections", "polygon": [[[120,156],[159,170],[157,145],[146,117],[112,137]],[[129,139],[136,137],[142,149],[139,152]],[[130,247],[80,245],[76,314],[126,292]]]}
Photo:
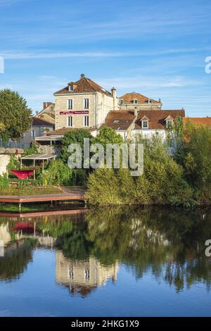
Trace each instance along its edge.
{"label": "calm river surface with blue sky, tree and building reflections", "polygon": [[211,316],[211,210],[0,216],[0,316]]}

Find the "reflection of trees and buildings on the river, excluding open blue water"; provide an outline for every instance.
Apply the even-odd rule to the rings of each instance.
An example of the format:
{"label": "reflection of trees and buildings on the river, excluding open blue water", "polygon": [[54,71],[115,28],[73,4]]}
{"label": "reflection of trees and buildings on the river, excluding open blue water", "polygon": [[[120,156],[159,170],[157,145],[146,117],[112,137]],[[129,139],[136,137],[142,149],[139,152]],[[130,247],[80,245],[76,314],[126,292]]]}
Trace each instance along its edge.
{"label": "reflection of trees and buildings on the river, excluding open blue water", "polygon": [[71,294],[88,296],[108,280],[117,281],[120,264],[138,279],[151,273],[177,292],[196,283],[210,289],[209,209],[104,209],[65,215],[0,218],[1,280],[20,277],[33,250],[56,250],[56,282]]}

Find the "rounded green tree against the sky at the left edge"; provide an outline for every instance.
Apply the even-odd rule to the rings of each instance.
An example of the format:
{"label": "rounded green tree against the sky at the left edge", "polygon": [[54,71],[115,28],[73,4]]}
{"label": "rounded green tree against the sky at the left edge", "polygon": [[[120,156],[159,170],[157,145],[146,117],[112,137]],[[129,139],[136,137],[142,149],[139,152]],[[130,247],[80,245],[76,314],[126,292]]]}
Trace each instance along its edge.
{"label": "rounded green tree against the sky at the left edge", "polygon": [[29,130],[32,123],[32,111],[27,106],[27,101],[18,92],[10,89],[0,91],[0,137],[20,139],[24,132]]}

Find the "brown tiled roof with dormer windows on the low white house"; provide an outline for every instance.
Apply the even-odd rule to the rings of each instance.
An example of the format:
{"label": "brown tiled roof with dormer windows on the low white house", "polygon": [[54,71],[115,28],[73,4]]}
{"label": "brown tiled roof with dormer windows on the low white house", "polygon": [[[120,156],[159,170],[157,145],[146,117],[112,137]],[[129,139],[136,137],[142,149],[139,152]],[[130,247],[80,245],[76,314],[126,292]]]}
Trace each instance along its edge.
{"label": "brown tiled roof with dormer windows on the low white house", "polygon": [[163,110],[163,111],[139,111],[136,124],[135,124],[135,130],[140,130],[141,129],[141,118],[146,116],[149,119],[149,129],[164,129],[166,127],[165,120],[167,119],[168,116],[171,116],[173,119],[176,119],[177,117],[185,117],[185,111],[184,109],[180,110]]}

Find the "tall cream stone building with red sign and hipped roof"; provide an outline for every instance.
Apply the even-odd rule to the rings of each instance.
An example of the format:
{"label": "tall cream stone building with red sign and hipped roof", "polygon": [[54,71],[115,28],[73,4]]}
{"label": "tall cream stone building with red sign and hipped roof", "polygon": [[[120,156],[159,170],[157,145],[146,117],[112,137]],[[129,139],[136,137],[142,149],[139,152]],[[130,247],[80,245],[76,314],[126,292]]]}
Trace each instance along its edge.
{"label": "tall cream stone building with red sign and hipped roof", "polygon": [[118,106],[115,88],[108,92],[84,75],[77,82],[69,82],[54,96],[56,130],[65,127],[98,128],[108,112]]}

